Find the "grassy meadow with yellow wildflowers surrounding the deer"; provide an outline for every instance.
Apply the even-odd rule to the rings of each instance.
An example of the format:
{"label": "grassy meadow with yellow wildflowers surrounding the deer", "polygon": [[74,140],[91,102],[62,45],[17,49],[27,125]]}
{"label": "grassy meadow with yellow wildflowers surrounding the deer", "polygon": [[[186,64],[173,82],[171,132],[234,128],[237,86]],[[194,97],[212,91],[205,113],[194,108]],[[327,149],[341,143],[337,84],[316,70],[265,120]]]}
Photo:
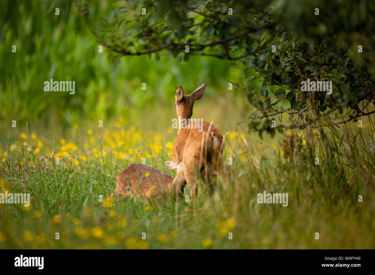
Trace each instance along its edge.
{"label": "grassy meadow with yellow wildflowers surrounding the deer", "polygon": [[[33,200],[28,208],[0,204],[0,248],[375,247],[371,120],[366,128],[353,123],[340,129],[324,127],[321,132],[305,129],[301,135],[287,132],[263,141],[257,134],[228,133],[224,159],[226,164],[233,159],[231,178],[215,181],[213,193],[199,181],[202,191],[193,202],[169,198],[152,205],[106,198],[115,188],[118,172],[131,162],[140,163],[142,157],[147,165],[174,176],[163,163],[171,159],[166,146],[174,141],[175,131],[156,134],[147,127],[132,127],[136,122],[129,121],[117,124],[120,137],[115,123],[91,135],[87,129],[84,134],[73,129],[73,134],[58,139],[51,129],[38,132],[35,139],[28,133],[22,140],[19,132],[17,139],[1,143],[5,161],[0,192],[30,191]],[[65,144],[60,142],[63,137]],[[55,156],[64,150],[70,157],[55,165]],[[4,151],[10,154],[4,156]],[[42,161],[45,155],[48,159]],[[46,165],[50,169],[45,170]],[[263,191],[288,193],[288,206],[258,204],[257,194]]]}

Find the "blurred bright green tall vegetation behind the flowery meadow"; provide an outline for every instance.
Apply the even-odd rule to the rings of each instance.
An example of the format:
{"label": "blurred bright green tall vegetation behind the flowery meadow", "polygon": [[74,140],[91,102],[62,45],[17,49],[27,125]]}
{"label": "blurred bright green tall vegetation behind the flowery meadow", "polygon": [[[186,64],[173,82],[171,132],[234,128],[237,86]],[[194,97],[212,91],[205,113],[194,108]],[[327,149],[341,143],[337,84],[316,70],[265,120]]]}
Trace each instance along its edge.
{"label": "blurred bright green tall vegetation behind the flowery meadow", "polygon": [[[94,16],[109,12],[107,1],[90,5]],[[56,7],[60,15],[55,15]],[[176,117],[178,86],[190,94],[202,83],[205,94],[195,104],[193,117],[215,120],[216,125],[219,121],[219,127],[225,127],[221,130],[228,131],[249,114],[245,96],[228,89],[227,79],[239,81],[240,74],[227,61],[190,56],[177,62],[161,53],[157,61],[142,55],[110,62],[106,49],[98,51],[73,1],[3,1],[0,18],[0,124],[6,130],[1,131],[2,139],[12,137],[12,120],[24,131],[54,129],[57,135],[99,120],[108,127],[120,117],[166,131]],[[44,91],[43,83],[50,79],[75,81],[75,94]]]}

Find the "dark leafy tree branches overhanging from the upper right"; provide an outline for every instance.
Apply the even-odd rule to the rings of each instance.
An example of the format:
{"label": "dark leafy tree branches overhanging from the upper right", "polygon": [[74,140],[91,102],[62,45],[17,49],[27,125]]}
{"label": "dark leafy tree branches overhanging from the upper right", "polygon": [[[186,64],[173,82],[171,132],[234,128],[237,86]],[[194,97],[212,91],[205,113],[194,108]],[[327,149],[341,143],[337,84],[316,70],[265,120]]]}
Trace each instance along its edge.
{"label": "dark leafy tree branches overhanging from the upper right", "polygon": [[[372,2],[125,1],[102,21],[91,20],[87,4],[77,6],[113,59],[142,54],[158,59],[161,51],[179,60],[228,59],[242,74],[242,82],[231,82],[257,109],[250,128],[274,134],[270,120],[282,113],[290,123],[276,128],[304,128],[336,110],[342,122],[373,113],[368,111],[375,99]],[[249,68],[259,74],[261,88],[251,85]],[[302,91],[307,79],[332,81],[333,93]]]}

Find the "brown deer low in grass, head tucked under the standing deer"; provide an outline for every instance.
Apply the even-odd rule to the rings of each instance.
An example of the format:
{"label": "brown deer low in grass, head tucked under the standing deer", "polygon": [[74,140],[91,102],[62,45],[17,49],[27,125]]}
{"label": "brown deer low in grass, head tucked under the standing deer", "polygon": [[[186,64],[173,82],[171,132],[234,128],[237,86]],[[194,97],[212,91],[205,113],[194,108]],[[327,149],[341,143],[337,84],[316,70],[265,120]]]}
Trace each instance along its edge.
{"label": "brown deer low in grass, head tucked under the standing deer", "polygon": [[111,197],[116,194],[118,198],[133,196],[136,201],[142,198],[154,201],[160,196],[166,199],[168,190],[171,190],[172,196],[175,196],[175,186],[181,186],[185,181],[183,166],[175,161],[166,161],[165,165],[171,170],[176,169],[177,174],[174,178],[160,174],[159,171],[147,165],[130,164],[118,174],[116,189]]}

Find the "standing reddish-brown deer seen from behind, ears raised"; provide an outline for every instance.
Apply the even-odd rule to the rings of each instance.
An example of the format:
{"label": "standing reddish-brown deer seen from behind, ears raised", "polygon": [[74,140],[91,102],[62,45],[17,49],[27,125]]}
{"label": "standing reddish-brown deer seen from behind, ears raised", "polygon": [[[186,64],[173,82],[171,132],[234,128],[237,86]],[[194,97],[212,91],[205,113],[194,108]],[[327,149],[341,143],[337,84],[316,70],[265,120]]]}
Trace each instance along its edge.
{"label": "standing reddish-brown deer seen from behind, ears raised", "polygon": [[[173,145],[172,160],[183,164],[183,174],[189,186],[190,197],[196,193],[194,172],[204,172],[204,178],[210,180],[212,174],[223,171],[222,152],[223,135],[212,123],[194,121],[184,125],[193,115],[193,106],[204,93],[205,84],[190,95],[184,95],[182,87],[176,91],[176,109],[178,117],[178,134]],[[184,120],[185,119],[185,120]],[[199,129],[198,129],[199,128]],[[184,182],[178,181],[176,189],[183,192]]]}

